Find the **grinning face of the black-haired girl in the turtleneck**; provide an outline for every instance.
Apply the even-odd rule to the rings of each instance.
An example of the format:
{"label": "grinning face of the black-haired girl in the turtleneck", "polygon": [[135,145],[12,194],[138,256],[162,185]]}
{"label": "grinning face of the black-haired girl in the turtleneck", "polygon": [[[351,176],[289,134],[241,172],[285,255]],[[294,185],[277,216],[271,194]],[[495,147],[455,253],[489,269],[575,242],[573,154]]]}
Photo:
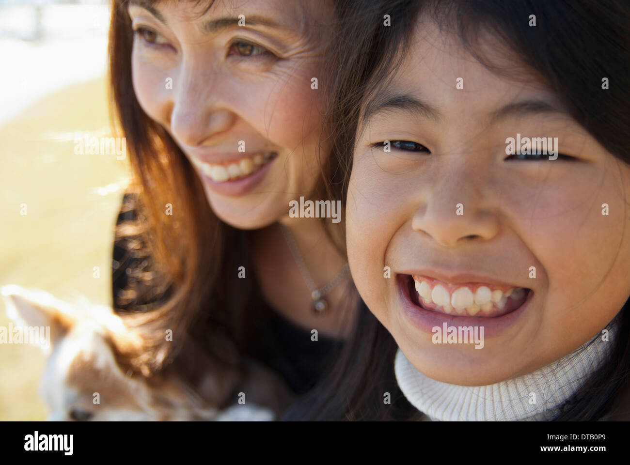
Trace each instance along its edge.
{"label": "grinning face of the black-haired girl in the turtleneck", "polygon": [[[348,259],[365,303],[416,368],[463,386],[522,376],[618,313],[630,295],[630,168],[552,93],[498,77],[426,23],[364,108]],[[510,137],[520,155],[507,154]],[[558,158],[527,154],[525,137],[557,137]],[[464,343],[464,327],[483,342]]]}

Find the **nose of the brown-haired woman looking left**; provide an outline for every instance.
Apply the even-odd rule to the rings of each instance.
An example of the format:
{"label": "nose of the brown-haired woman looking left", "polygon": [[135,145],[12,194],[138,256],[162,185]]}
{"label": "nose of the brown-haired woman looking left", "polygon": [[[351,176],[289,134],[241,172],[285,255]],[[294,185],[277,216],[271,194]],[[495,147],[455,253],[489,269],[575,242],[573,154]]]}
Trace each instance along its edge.
{"label": "nose of the brown-haired woman looking left", "polygon": [[220,72],[183,69],[173,83],[171,131],[181,144],[200,146],[229,130],[236,114],[229,108]]}

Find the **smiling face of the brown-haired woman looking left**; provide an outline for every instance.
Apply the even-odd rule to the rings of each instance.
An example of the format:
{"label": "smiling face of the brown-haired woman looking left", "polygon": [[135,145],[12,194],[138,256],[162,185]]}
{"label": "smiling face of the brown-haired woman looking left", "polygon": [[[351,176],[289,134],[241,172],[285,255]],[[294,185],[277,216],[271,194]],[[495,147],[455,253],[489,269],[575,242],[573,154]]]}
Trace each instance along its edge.
{"label": "smiling face of the brown-haired woman looking left", "polygon": [[318,180],[313,78],[319,87],[332,6],[219,0],[200,16],[193,5],[130,2],[135,95],[197,167],[214,212],[263,227]]}

